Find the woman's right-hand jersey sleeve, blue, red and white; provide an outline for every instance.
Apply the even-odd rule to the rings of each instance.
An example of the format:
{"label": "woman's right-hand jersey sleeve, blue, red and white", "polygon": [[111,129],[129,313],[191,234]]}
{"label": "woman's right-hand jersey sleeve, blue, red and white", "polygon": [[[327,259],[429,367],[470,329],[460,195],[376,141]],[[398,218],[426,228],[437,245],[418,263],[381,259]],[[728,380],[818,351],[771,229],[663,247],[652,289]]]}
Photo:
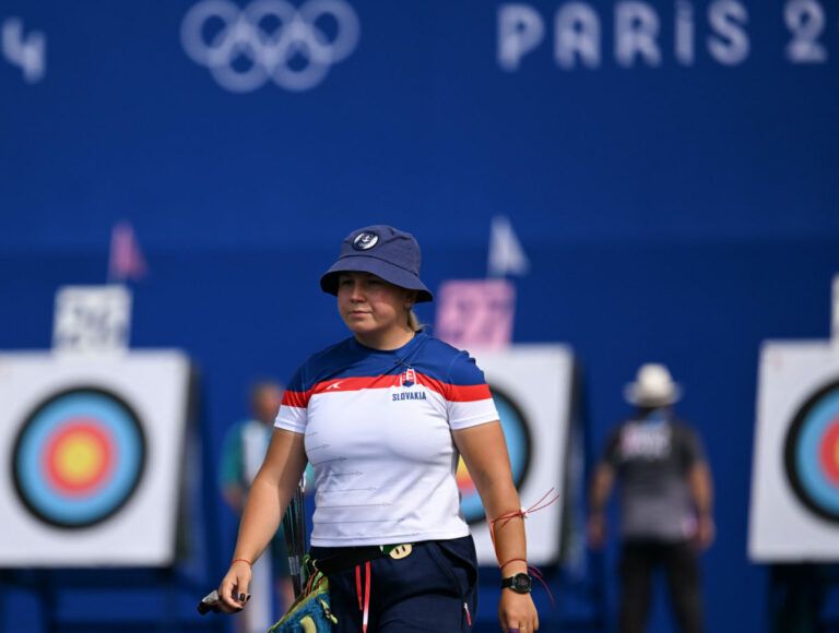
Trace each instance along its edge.
{"label": "woman's right-hand jersey sleeve, blue, red and white", "polygon": [[489,385],[475,359],[458,354],[449,367],[444,397],[452,430],[466,429],[498,419]]}

